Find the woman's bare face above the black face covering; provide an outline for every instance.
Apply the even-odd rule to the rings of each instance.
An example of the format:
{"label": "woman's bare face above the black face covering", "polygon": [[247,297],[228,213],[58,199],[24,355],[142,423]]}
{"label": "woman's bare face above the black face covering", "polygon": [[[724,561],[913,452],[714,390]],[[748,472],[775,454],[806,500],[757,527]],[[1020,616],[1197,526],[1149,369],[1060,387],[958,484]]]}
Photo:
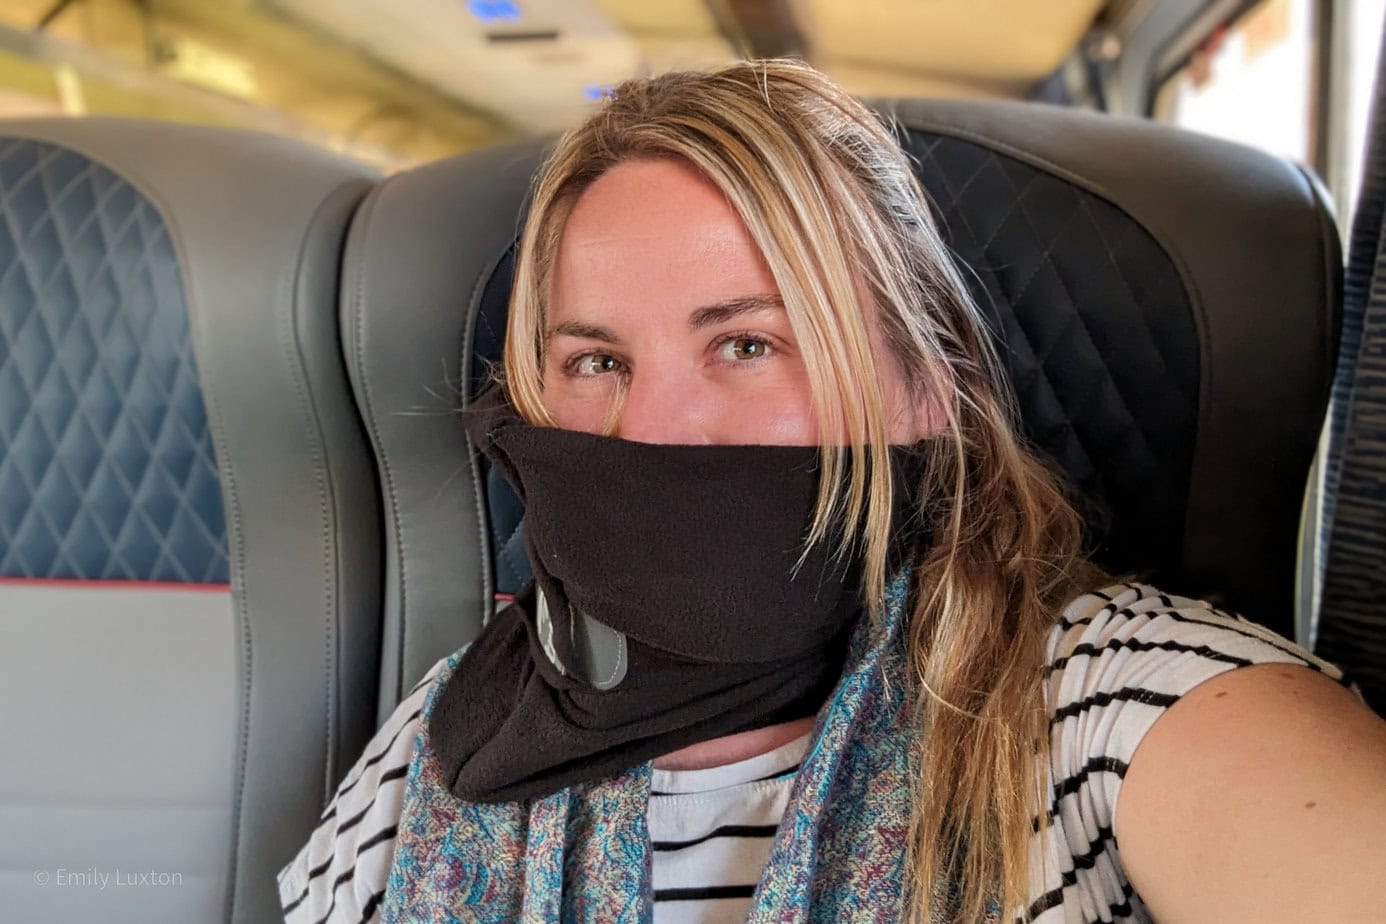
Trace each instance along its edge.
{"label": "woman's bare face above the black face covering", "polygon": [[[554,262],[543,398],[559,427],[646,443],[816,445],[808,374],[740,217],[678,161],[628,161],[574,205]],[[875,332],[873,332],[873,339]],[[920,438],[875,344],[891,441]]]}

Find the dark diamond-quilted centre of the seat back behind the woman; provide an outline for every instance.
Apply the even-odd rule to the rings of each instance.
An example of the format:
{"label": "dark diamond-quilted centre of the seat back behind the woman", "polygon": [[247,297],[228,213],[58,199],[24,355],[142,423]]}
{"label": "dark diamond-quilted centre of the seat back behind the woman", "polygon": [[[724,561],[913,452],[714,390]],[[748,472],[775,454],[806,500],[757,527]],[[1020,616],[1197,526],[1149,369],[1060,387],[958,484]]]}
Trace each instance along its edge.
{"label": "dark diamond-quilted centre of the seat back behind the woman", "polygon": [[[1182,553],[1199,350],[1178,270],[1131,216],[991,148],[905,132],[942,236],[988,314],[1027,438],[1078,490],[1095,558],[1160,575]],[[513,260],[488,281],[473,385],[500,357]],[[496,586],[528,579],[521,501],[488,479]]]}

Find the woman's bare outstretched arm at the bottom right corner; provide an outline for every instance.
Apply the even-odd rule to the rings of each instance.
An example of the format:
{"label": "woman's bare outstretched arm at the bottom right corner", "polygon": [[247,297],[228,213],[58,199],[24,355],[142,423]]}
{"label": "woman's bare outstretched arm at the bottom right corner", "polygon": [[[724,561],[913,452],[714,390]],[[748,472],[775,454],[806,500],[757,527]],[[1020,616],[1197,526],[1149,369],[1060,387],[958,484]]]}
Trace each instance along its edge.
{"label": "woman's bare outstretched arm at the bottom right corner", "polygon": [[1386,722],[1307,668],[1220,675],[1145,736],[1116,834],[1161,923],[1386,921]]}

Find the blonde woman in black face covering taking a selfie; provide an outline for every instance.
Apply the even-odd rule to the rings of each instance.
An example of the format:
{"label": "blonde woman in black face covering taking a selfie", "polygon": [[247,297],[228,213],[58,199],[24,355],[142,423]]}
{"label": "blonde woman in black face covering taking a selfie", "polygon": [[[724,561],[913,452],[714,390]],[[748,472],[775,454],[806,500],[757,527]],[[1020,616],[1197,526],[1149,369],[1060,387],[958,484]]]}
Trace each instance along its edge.
{"label": "blonde woman in black face covering taking a selfie", "polygon": [[1382,916],[1386,726],[1268,632],[1099,590],[995,370],[826,78],[618,87],[467,420],[536,586],[346,774],[288,920]]}

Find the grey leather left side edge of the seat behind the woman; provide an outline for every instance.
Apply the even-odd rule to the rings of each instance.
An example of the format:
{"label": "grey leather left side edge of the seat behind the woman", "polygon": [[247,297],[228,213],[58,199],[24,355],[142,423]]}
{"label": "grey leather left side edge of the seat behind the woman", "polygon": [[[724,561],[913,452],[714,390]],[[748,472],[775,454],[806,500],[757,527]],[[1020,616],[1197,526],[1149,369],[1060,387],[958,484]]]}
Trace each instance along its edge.
{"label": "grey leather left side edge of the seat behind the woman", "polygon": [[[535,145],[383,181],[352,224],[342,337],[385,504],[380,719],[492,611],[481,472],[457,417],[482,290],[517,233]],[[459,183],[459,168],[481,183]]]}

